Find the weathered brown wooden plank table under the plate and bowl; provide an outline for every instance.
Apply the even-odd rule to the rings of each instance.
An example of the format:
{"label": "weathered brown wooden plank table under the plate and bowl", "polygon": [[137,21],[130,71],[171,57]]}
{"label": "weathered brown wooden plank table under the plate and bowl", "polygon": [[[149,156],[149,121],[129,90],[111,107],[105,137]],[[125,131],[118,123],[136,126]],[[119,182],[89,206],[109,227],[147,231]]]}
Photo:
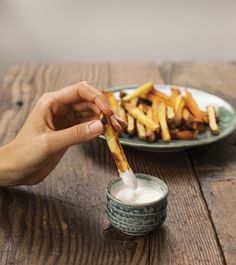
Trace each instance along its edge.
{"label": "weathered brown wooden plank table under the plate and bowl", "polygon": [[[16,135],[42,93],[80,80],[97,88],[181,84],[236,107],[235,63],[14,66],[0,90],[1,143]],[[70,148],[39,185],[0,189],[0,264],[236,264],[236,134],[180,153],[125,151],[134,171],[169,186],[158,231],[135,238],[109,226],[105,188],[116,170],[106,145],[94,140]]]}

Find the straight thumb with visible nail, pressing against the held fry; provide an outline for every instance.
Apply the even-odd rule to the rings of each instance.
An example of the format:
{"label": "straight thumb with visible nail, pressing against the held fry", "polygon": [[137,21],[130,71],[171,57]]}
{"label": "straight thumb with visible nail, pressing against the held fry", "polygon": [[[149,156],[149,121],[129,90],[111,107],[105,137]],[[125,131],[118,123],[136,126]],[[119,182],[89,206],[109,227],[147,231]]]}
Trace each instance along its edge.
{"label": "straight thumb with visible nail, pressing against the held fry", "polygon": [[99,120],[84,122],[54,133],[55,149],[63,149],[70,145],[87,142],[103,133],[103,124]]}

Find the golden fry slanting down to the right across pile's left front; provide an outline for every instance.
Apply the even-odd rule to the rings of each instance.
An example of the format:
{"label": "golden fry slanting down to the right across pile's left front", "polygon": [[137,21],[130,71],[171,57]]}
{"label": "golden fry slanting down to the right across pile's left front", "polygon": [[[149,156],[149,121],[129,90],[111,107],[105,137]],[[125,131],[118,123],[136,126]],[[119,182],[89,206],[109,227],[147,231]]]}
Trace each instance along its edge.
{"label": "golden fry slanting down to the right across pile's left front", "polygon": [[156,131],[156,129],[159,127],[159,124],[148,118],[147,115],[145,115],[139,108],[133,107],[130,104],[125,104],[125,109],[131,116],[133,116],[146,127],[150,128],[152,131]]}

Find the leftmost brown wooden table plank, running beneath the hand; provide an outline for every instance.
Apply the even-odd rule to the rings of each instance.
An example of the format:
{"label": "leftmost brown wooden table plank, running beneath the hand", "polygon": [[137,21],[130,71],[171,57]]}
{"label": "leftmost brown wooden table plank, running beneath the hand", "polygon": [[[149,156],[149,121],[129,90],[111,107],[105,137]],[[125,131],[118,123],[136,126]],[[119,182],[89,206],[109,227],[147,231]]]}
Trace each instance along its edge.
{"label": "leftmost brown wooden table plank, running beneath the hand", "polygon": [[[1,143],[19,131],[44,91],[80,80],[105,88],[111,85],[109,67],[76,64],[12,68],[1,91],[7,94]],[[19,101],[21,106],[16,103]],[[107,229],[105,188],[115,174],[108,149],[95,140],[70,148],[41,184],[1,189],[1,264],[148,264],[148,237],[135,239]]]}

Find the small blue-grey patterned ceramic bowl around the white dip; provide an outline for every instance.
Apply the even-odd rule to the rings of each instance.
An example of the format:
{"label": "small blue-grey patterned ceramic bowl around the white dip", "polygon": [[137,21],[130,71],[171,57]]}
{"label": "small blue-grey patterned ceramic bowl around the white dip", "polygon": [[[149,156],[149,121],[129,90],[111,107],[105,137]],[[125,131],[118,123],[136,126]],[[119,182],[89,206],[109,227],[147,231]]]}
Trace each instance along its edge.
{"label": "small blue-grey patterned ceramic bowl around the white dip", "polygon": [[127,203],[115,198],[112,190],[122,181],[121,178],[113,179],[107,187],[107,217],[111,224],[128,235],[145,235],[162,225],[166,219],[166,206],[168,187],[161,179],[135,173],[139,179],[159,185],[163,191],[161,198],[149,203]]}

